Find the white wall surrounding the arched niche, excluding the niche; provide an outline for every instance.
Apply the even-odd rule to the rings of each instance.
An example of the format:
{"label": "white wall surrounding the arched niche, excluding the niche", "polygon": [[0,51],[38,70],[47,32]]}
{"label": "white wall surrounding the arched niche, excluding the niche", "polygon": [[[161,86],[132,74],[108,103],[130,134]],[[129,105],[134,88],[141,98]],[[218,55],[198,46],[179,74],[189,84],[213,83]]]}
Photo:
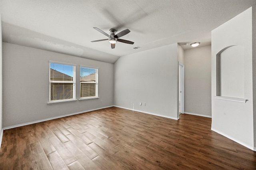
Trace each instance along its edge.
{"label": "white wall surrounding the arched niche, excluding the niche", "polygon": [[[243,47],[246,103],[216,99],[216,54],[230,45]],[[232,62],[227,67],[234,67]],[[212,31],[212,130],[253,149],[252,8]]]}

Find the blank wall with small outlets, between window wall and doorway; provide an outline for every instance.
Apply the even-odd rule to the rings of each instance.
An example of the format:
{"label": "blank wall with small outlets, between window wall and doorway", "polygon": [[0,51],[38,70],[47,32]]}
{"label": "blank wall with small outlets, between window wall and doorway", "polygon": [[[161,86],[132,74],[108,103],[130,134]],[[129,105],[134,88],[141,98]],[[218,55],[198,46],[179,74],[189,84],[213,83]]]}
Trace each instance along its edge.
{"label": "blank wall with small outlets, between window wall and doorway", "polygon": [[114,64],[114,105],[177,119],[177,51],[175,43],[120,57]]}

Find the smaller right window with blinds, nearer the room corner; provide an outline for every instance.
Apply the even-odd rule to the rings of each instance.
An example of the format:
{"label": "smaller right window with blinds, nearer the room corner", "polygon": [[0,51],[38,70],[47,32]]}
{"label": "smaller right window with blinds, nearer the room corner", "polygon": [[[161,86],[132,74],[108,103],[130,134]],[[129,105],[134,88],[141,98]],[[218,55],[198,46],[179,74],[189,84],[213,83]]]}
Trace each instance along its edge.
{"label": "smaller right window with blinds, nearer the room corner", "polygon": [[80,66],[80,99],[98,98],[98,68]]}

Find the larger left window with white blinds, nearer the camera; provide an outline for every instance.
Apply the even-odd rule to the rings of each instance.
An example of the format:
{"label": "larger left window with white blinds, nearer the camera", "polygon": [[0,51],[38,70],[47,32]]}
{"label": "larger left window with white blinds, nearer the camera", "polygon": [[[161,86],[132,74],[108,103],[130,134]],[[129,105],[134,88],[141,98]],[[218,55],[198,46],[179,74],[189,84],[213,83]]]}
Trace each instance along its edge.
{"label": "larger left window with white blinds, nearer the camera", "polygon": [[50,61],[49,103],[76,99],[76,65]]}

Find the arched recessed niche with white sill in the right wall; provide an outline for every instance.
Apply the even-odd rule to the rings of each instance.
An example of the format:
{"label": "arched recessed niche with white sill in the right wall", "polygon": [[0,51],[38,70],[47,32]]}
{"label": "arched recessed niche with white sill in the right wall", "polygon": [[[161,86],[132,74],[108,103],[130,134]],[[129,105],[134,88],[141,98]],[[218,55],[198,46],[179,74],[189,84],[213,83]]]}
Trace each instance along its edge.
{"label": "arched recessed niche with white sill in the right wall", "polygon": [[230,45],[216,54],[216,97],[245,102],[244,48]]}

